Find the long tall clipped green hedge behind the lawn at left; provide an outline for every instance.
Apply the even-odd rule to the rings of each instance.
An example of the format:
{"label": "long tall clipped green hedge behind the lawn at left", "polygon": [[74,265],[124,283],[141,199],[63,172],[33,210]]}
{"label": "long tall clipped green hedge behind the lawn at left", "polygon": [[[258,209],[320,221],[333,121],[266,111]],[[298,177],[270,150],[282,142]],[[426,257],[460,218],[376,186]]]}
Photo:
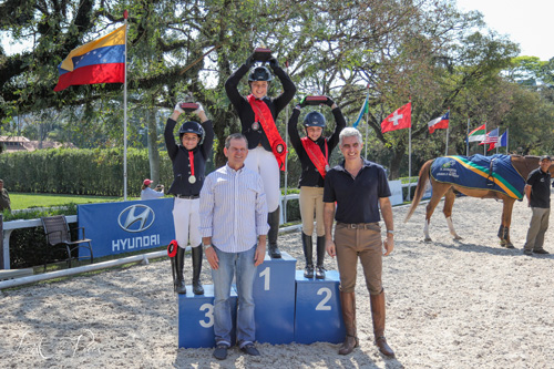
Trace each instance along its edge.
{"label": "long tall clipped green hedge behind the lawn at left", "polygon": [[[173,182],[167,155],[160,155],[160,181]],[[123,196],[123,150],[37,150],[0,155],[2,178],[11,192]],[[147,150],[127,150],[127,194],[140,196],[150,177]]]}

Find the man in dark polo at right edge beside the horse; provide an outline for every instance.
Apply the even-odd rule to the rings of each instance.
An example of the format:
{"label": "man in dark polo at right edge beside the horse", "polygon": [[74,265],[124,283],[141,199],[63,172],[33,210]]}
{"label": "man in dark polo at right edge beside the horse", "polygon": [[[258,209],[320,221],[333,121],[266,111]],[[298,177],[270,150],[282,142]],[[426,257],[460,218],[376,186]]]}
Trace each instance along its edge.
{"label": "man in dark polo at right edge beside the horse", "polygon": [[543,248],[543,244],[551,215],[551,174],[548,172],[551,164],[552,160],[548,155],[541,156],[538,167],[527,176],[525,195],[533,215],[529,225],[527,239],[523,246],[525,255],[548,254]]}

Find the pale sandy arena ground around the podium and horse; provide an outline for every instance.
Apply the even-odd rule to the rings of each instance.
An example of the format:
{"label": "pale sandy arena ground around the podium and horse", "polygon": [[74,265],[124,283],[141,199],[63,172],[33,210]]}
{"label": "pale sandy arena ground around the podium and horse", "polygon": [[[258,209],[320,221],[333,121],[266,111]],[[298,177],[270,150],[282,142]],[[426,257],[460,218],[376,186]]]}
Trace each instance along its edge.
{"label": "pale sandy arena ground around the podium and horse", "polygon": [[[454,242],[439,205],[432,243],[423,243],[424,205],[407,224],[394,208],[394,253],[383,263],[387,330],[396,359],[372,345],[368,291],[358,265],[360,348],[339,345],[258,345],[225,361],[212,349],[177,349],[177,305],[168,260],[94,276],[3,290],[0,367],[3,368],[554,368],[554,255],[524,256],[526,203],[514,206],[515,249],[501,248],[502,203],[462,197],[454,204]],[[554,227],[553,227],[554,228]],[[545,248],[554,252],[552,230]],[[281,249],[304,267],[299,233]],[[191,265],[191,260],[186,260]],[[336,262],[326,259],[328,269]],[[191,270],[187,270],[189,283]],[[204,263],[203,283],[209,284]]]}

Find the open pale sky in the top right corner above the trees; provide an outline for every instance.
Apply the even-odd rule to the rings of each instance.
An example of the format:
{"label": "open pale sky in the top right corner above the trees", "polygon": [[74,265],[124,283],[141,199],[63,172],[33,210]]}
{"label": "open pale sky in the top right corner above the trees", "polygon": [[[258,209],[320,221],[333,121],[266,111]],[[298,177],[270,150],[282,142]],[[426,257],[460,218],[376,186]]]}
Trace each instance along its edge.
{"label": "open pale sky in the top right corner above the trees", "polygon": [[458,0],[461,10],[479,10],[488,27],[520,44],[521,55],[554,58],[554,0]]}

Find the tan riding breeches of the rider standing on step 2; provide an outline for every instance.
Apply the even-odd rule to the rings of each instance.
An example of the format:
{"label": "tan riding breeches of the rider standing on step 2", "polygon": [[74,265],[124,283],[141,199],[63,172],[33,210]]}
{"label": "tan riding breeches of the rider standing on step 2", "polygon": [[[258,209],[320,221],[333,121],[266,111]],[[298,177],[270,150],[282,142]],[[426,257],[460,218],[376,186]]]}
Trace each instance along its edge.
{"label": "tan riding breeches of the rider standing on step 2", "polygon": [[302,232],[307,236],[311,236],[314,234],[314,213],[316,214],[317,236],[325,236],[324,188],[301,186],[300,216],[302,217]]}

